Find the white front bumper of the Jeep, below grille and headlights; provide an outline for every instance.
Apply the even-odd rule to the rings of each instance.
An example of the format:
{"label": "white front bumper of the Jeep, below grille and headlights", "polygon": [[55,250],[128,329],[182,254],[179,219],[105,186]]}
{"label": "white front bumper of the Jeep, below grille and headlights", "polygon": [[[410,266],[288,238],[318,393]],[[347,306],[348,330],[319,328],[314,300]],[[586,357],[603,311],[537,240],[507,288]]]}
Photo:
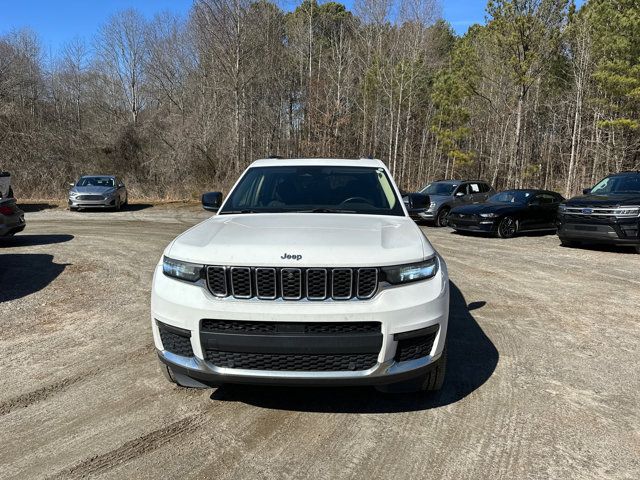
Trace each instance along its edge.
{"label": "white front bumper of the Jeep, below grille and headlights", "polygon": [[[446,266],[441,261],[432,279],[380,290],[370,300],[238,300],[216,298],[206,288],[166,277],[158,266],[154,276],[151,322],[154,342],[162,362],[174,372],[201,383],[285,384],[285,385],[376,385],[394,383],[423,375],[442,354],[449,316],[449,283]],[[209,340],[201,331],[202,319],[288,324],[319,322],[379,322],[380,345],[374,364],[363,370],[297,371],[230,368],[205,360]],[[190,334],[192,356],[184,356],[164,348],[158,322],[177,327]],[[425,329],[434,332],[433,345],[419,358],[398,360],[398,345],[406,337],[419,335]],[[414,332],[407,335],[407,332]],[[415,333],[417,332],[417,333]],[[307,339],[308,340],[308,339]],[[358,347],[353,341],[353,351]],[[362,342],[360,342],[361,344]],[[239,345],[238,350],[251,350]],[[264,347],[268,348],[268,347]],[[275,348],[275,347],[274,347]],[[282,348],[280,345],[278,348]],[[295,342],[292,348],[296,348]],[[297,346],[318,351],[313,346]],[[348,353],[342,342],[340,352]]]}

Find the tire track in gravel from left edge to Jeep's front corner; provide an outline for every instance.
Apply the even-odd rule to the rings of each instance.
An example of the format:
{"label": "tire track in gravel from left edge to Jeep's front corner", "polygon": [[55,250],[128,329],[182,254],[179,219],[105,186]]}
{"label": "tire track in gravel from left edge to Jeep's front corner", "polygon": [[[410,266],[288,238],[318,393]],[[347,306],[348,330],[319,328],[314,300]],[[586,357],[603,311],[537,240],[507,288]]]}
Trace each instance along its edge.
{"label": "tire track in gravel from left edge to Jeep's front corner", "polygon": [[[145,355],[150,354],[153,351],[153,348],[153,344],[145,345],[142,348],[124,355],[124,358],[127,360],[135,360],[137,358],[144,357]],[[84,380],[95,377],[96,375],[109,370],[113,363],[121,363],[122,361],[123,358],[114,358],[113,362],[107,363],[100,367],[84,370],[77,375],[63,378],[58,382],[50,383],[49,385],[45,385],[30,392],[23,393],[21,395],[17,395],[15,397],[9,398],[8,400],[0,402],[0,417],[7,415],[8,413],[11,413],[15,410],[27,408],[35,403],[48,400],[54,395],[62,393],[70,387]]]}

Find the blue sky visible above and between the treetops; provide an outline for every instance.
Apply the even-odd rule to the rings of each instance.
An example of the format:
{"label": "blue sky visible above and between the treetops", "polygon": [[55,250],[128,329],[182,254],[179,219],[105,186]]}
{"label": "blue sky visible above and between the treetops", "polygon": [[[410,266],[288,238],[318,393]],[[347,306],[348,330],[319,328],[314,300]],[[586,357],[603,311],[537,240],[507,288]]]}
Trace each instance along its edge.
{"label": "blue sky visible above and between the treetops", "polygon": [[[484,22],[486,0],[441,1],[444,17],[458,33]],[[91,39],[109,15],[118,10],[135,8],[151,18],[162,11],[185,14],[192,3],[193,0],[0,0],[0,35],[29,27],[40,36],[45,51],[55,53],[74,37]],[[353,0],[343,3],[350,8]],[[298,2],[283,0],[281,4],[295,8]]]}

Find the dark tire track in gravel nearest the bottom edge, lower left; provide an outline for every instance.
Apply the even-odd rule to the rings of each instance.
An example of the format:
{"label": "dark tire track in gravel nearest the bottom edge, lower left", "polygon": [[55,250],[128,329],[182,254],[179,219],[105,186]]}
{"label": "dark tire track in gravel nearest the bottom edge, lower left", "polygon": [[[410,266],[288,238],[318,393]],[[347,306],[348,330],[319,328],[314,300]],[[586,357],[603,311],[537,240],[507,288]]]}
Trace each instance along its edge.
{"label": "dark tire track in gravel nearest the bottom edge, lower left", "polygon": [[71,467],[59,471],[49,479],[86,478],[107,472],[123,463],[130,462],[146,453],[161,448],[174,441],[177,437],[195,432],[204,423],[204,418],[202,414],[185,417],[129,440],[114,450],[82,460]]}

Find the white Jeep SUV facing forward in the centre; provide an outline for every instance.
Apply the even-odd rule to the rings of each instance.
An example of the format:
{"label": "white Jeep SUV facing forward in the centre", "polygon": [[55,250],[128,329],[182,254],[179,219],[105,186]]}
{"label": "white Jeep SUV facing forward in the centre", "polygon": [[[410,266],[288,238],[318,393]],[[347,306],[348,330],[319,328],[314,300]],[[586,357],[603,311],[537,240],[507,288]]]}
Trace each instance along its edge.
{"label": "white Jeep SUV facing forward in the centre", "polygon": [[[414,206],[426,200],[412,194]],[[254,162],[153,279],[167,378],[438,390],[449,280],[379,160]]]}

